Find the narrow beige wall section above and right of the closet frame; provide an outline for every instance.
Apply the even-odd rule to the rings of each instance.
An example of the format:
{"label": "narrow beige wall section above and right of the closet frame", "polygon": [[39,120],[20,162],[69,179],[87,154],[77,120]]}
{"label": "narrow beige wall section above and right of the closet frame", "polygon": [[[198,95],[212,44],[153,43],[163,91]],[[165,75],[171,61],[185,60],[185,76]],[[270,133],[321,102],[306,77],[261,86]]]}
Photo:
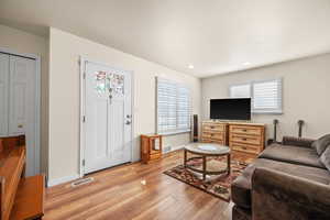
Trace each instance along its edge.
{"label": "narrow beige wall section above and right of the closet frame", "polygon": [[8,48],[16,53],[26,53],[41,56],[41,169],[43,173],[46,173],[47,167],[47,38],[9,26],[0,25],[1,48]]}

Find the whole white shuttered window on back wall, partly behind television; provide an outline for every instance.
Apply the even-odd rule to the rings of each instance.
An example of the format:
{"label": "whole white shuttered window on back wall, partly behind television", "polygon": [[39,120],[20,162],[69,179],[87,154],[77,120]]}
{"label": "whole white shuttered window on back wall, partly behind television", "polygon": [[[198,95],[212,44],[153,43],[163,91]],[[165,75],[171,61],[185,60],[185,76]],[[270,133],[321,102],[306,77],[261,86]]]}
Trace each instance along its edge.
{"label": "whole white shuttered window on back wall, partly behind television", "polygon": [[229,88],[231,98],[252,98],[253,113],[282,113],[282,79],[253,81]]}

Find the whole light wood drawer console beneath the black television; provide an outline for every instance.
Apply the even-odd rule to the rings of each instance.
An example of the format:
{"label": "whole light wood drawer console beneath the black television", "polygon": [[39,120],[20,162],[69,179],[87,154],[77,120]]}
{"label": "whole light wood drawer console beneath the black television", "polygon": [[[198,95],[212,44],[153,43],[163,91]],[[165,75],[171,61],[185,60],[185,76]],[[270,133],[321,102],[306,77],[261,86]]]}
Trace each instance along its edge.
{"label": "whole light wood drawer console beneath the black television", "polygon": [[256,157],[265,147],[265,124],[204,121],[201,141],[229,145],[233,153]]}

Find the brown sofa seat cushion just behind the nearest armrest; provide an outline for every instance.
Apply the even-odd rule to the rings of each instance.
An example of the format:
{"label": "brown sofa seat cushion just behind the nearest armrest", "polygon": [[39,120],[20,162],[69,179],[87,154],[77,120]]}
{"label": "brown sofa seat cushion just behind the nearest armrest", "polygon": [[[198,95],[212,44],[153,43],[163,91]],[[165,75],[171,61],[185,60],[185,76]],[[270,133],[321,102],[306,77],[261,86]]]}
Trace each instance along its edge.
{"label": "brown sofa seat cushion just behind the nearest armrest", "polygon": [[241,176],[231,185],[231,196],[234,204],[245,209],[251,208],[251,177],[256,167],[271,168],[289,175],[315,180],[320,184],[330,184],[330,173],[324,168],[289,164],[267,158],[256,158]]}

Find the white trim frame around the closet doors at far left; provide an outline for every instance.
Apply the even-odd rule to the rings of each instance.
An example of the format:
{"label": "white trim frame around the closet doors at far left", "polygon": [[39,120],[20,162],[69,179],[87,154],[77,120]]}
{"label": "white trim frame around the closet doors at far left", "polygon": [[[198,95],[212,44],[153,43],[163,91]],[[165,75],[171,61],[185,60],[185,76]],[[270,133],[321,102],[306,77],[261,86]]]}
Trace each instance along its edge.
{"label": "white trim frame around the closet doors at far left", "polygon": [[34,162],[34,170],[41,172],[41,146],[40,146],[40,128],[41,128],[41,56],[35,54],[26,54],[26,53],[18,53],[10,48],[3,48],[0,47],[0,53],[13,55],[13,56],[21,56],[23,58],[32,58],[35,59],[35,101],[36,101],[36,108],[35,108],[35,162]]}

